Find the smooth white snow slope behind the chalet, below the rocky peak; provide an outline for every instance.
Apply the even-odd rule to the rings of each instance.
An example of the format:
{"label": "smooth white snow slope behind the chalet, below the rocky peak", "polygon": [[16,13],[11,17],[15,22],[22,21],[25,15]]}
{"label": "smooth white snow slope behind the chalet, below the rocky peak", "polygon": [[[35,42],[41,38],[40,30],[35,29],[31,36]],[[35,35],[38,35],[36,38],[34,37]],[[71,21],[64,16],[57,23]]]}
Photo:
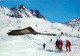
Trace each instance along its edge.
{"label": "smooth white snow slope behind the chalet, below the rocky peak", "polygon": [[[36,30],[37,32],[41,32],[41,33],[54,33],[57,35],[59,35],[61,32],[68,33],[68,34],[75,34],[75,32],[77,33],[77,30],[74,30],[72,32],[71,27],[65,26],[60,23],[51,23],[49,21],[45,21],[44,19],[12,18],[4,14],[1,14],[0,18],[1,18],[0,28],[6,29],[7,31],[13,30],[13,29],[23,29],[23,28],[27,28],[31,26],[34,30]],[[20,28],[18,28],[19,26]]]}

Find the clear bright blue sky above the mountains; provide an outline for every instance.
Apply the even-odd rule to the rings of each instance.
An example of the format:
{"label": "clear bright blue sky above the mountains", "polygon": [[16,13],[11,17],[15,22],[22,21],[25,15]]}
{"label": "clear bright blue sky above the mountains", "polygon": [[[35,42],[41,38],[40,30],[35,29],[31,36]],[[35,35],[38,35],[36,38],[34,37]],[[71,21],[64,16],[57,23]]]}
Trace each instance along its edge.
{"label": "clear bright blue sky above the mountains", "polygon": [[10,8],[21,4],[39,10],[51,22],[80,18],[80,0],[0,0],[0,6]]}

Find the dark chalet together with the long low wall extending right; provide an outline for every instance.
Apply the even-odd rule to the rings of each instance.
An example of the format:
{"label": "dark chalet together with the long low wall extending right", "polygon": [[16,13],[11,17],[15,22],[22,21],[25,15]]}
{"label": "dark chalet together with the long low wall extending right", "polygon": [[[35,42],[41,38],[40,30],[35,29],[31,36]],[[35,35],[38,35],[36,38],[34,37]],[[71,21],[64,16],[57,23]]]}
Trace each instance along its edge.
{"label": "dark chalet together with the long low wall extending right", "polygon": [[56,36],[56,34],[53,33],[39,33],[36,32],[33,28],[28,27],[24,29],[19,29],[19,30],[11,30],[10,32],[7,33],[8,35],[24,35],[24,34],[40,34],[40,35],[52,35]]}

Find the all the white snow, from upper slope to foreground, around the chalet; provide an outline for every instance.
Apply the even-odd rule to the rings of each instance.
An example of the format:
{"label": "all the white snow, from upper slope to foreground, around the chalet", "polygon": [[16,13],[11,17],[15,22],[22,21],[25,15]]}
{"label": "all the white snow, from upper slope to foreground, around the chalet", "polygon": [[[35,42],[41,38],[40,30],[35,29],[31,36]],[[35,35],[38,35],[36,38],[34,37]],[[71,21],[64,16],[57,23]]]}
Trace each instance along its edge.
{"label": "all the white snow, from upper slope to foreground, around the chalet", "polygon": [[[7,10],[7,9],[5,9]],[[35,17],[12,18],[0,12],[0,56],[80,56],[80,35],[77,30],[60,23],[51,23]],[[4,12],[5,13],[5,12]],[[36,26],[37,25],[37,26]],[[20,26],[20,28],[18,28]],[[8,36],[7,33],[14,29],[24,29],[31,26],[40,33],[55,33],[57,36],[48,35],[19,35]],[[59,36],[61,32],[68,36]],[[71,36],[69,36],[71,34]],[[79,35],[79,36],[78,36]],[[56,39],[63,41],[63,51],[55,49]],[[50,42],[52,39],[52,43]],[[71,52],[66,52],[65,41],[72,43]],[[45,50],[42,44],[46,43]]]}

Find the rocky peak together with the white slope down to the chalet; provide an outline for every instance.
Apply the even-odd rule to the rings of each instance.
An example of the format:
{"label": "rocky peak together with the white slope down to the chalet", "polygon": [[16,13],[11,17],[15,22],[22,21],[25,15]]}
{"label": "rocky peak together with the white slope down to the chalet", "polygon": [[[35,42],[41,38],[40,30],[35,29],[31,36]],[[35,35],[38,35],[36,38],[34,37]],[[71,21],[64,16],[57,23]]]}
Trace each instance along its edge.
{"label": "rocky peak together with the white slope down to the chalet", "polygon": [[64,32],[64,34],[68,33],[76,36],[79,33],[75,29],[74,31],[72,31],[71,27],[65,26],[60,23],[51,23],[41,16],[37,17],[37,14],[38,16],[41,15],[39,11],[30,10],[24,5],[20,5],[14,8],[6,8],[1,6],[0,28],[7,28],[6,30],[9,31],[14,29],[23,29],[31,26],[35,31],[40,33],[53,33],[59,35],[61,32]]}

